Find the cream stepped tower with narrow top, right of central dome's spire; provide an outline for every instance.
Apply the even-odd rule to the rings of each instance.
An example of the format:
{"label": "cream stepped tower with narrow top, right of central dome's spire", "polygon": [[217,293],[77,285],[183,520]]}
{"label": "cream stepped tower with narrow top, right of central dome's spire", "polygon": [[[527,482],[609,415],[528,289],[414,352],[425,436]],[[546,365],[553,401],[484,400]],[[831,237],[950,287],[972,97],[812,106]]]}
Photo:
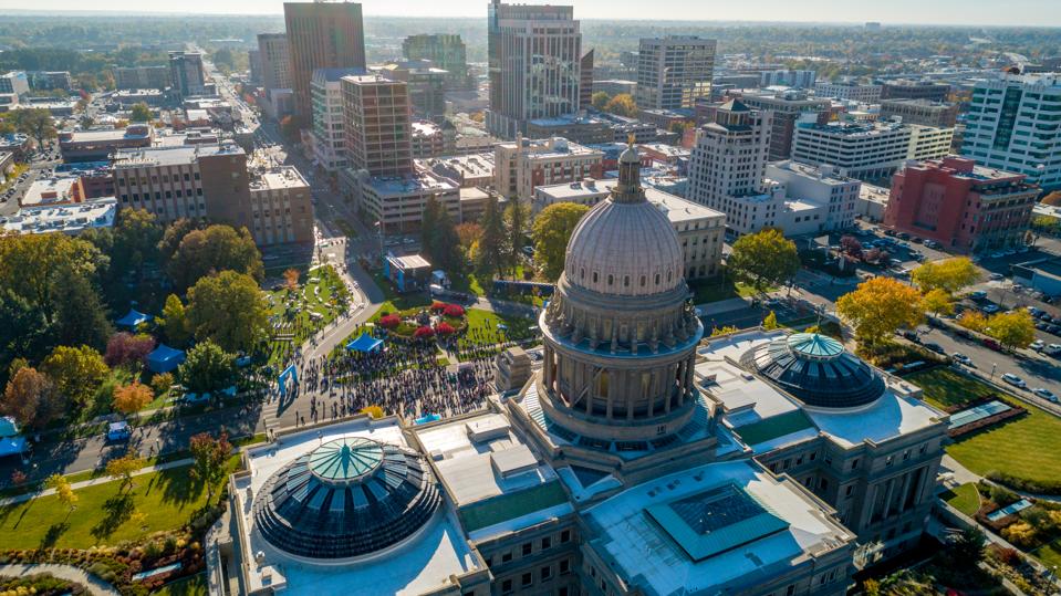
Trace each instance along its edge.
{"label": "cream stepped tower with narrow top, right of central dome's spire", "polygon": [[742,197],[762,194],[762,176],[770,154],[769,112],[730,100],[715,111],[715,119],[697,130],[689,156],[688,198],[727,215]]}

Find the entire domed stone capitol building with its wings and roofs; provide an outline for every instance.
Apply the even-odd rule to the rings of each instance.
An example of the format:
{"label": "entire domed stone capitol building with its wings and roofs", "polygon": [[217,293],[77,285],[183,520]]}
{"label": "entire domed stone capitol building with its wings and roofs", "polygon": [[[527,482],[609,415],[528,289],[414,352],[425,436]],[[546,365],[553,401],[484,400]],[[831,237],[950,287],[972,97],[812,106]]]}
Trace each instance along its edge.
{"label": "entire domed stone capitol building with its wings and roofs", "polygon": [[947,415],[826,336],[705,337],[633,147],[618,166],[530,379],[243,451],[211,593],[839,596],[918,542]]}

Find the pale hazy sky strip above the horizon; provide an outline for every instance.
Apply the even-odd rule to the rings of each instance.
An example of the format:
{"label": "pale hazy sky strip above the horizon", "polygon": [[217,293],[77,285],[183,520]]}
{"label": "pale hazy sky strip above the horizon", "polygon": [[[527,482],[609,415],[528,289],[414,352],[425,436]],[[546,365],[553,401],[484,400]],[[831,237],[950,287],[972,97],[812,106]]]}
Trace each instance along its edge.
{"label": "pale hazy sky strip above the horizon", "polygon": [[[521,0],[528,3],[534,0]],[[575,18],[1061,25],[1061,0],[553,0]],[[365,14],[483,17],[487,0],[364,0]],[[0,0],[0,10],[280,13],[281,0]],[[647,12],[647,14],[646,14]]]}

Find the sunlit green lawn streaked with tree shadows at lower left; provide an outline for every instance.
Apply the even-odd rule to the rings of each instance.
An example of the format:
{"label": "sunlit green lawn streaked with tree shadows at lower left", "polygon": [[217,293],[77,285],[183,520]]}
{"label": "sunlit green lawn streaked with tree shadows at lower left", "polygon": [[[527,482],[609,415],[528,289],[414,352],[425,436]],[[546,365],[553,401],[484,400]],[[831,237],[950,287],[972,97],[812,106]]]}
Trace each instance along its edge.
{"label": "sunlit green lawn streaked with tree shadows at lower left", "polygon": [[[239,456],[227,466],[235,471]],[[189,471],[180,467],[134,477],[132,491],[119,490],[117,481],[79,489],[73,511],[54,494],[2,506],[0,550],[89,548],[179,527],[207,502],[206,488]],[[215,499],[226,481],[218,482]]]}

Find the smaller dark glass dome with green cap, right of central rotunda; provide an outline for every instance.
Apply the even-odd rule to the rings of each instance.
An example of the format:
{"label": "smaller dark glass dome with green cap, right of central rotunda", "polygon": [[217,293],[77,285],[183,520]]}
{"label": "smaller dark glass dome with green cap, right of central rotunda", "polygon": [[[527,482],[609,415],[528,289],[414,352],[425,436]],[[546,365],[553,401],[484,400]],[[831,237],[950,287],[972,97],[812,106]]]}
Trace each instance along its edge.
{"label": "smaller dark glass dome with green cap, right of central rotunda", "polygon": [[816,333],[778,337],[748,351],[741,364],[808,406],[855,408],[876,401],[885,389],[873,367]]}

